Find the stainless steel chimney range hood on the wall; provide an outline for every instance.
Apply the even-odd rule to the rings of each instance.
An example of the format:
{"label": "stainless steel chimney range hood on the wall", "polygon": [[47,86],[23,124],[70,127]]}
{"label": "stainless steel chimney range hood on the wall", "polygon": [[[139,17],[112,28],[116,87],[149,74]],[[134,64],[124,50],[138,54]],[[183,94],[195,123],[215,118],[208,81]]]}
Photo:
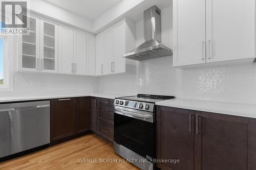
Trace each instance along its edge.
{"label": "stainless steel chimney range hood on the wall", "polygon": [[173,51],[161,43],[161,10],[157,6],[144,11],[144,39],[143,44],[123,57],[143,61],[173,55]]}

